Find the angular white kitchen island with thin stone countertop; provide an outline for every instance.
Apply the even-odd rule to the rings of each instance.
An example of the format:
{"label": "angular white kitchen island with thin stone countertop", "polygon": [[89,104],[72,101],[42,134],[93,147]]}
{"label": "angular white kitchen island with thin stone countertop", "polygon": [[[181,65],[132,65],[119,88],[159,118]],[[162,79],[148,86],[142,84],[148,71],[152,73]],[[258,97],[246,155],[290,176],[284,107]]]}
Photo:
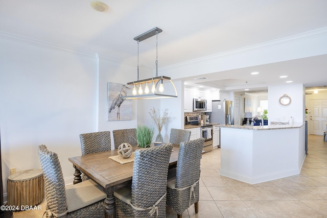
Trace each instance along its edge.
{"label": "angular white kitchen island with thin stone countertop", "polygon": [[300,173],[305,124],[220,127],[220,175],[256,184]]}

